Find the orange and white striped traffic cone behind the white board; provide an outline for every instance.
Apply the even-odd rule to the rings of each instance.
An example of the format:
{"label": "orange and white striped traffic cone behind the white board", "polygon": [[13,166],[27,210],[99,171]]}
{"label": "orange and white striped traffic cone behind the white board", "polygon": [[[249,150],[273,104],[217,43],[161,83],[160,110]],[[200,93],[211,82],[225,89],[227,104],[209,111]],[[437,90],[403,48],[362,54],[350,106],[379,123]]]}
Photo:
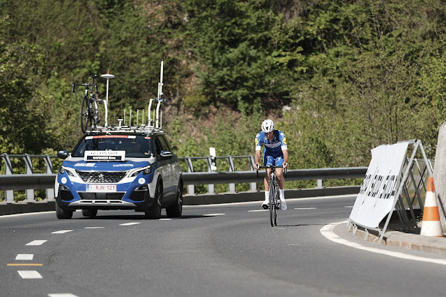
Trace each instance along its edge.
{"label": "orange and white striped traffic cone behind the white board", "polygon": [[424,201],[423,220],[420,235],[443,237],[440,223],[440,212],[438,211],[435,186],[433,177],[427,182],[426,200]]}

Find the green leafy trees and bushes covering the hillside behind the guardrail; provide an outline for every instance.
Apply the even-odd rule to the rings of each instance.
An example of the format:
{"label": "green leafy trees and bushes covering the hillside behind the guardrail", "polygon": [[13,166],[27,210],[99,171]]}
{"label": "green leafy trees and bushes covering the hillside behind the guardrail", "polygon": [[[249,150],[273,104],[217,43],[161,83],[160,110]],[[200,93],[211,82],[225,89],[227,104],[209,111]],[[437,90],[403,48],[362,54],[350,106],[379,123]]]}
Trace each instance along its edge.
{"label": "green leafy trees and bushes covering the hillside behind the guardrail", "polygon": [[180,156],[254,154],[272,118],[291,168],[367,166],[371,148],[410,138],[433,157],[445,23],[440,0],[0,0],[0,148],[73,147],[71,83],[89,74],[116,75],[113,118],[146,109],[163,59]]}

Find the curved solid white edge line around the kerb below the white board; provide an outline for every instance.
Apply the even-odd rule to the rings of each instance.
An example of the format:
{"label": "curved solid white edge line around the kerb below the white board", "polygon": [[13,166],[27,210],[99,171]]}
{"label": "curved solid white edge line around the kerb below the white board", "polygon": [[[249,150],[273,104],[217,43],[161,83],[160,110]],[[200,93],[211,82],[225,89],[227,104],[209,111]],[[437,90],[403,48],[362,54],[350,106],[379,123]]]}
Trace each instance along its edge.
{"label": "curved solid white edge line around the kerb below the white board", "polygon": [[337,236],[333,232],[333,228],[336,227],[339,224],[346,224],[347,221],[344,220],[343,222],[339,223],[331,223],[328,225],[325,225],[321,228],[321,234],[331,241],[334,241],[336,243],[344,244],[345,246],[350,246],[351,248],[358,248],[360,250],[367,250],[368,252],[376,252],[377,254],[381,255],[387,255],[390,257],[397,257],[400,259],[408,259],[413,261],[420,261],[420,262],[428,262],[428,263],[434,263],[434,264],[440,264],[440,265],[446,265],[446,260],[443,259],[433,259],[433,258],[426,258],[426,257],[419,257],[419,256],[413,256],[413,255],[407,255],[403,252],[393,252],[391,250],[381,250],[379,248],[369,248],[367,246],[362,246],[359,243],[354,243],[350,241],[346,241],[345,239],[341,239],[341,237]]}

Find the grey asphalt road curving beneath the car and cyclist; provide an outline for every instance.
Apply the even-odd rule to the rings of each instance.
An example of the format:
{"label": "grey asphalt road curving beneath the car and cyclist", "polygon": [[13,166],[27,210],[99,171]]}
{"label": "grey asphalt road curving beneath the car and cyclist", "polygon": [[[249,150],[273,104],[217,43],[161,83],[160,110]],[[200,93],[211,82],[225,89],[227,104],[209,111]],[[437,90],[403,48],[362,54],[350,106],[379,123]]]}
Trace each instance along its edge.
{"label": "grey asphalt road curving beneath the car and cyclist", "polygon": [[445,296],[446,265],[411,258],[445,257],[363,241],[345,223],[327,231],[347,220],[354,201],[288,200],[277,227],[261,202],[184,207],[174,220],[133,211],[1,216],[0,294]]}

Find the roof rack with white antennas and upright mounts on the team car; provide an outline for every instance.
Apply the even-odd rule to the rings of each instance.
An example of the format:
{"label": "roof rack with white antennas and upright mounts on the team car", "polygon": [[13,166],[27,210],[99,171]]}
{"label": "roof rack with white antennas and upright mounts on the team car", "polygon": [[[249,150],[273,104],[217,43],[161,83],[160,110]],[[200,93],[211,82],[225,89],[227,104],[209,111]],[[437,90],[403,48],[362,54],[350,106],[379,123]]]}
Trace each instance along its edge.
{"label": "roof rack with white antennas and upright mounts on the team car", "polygon": [[[132,109],[130,109],[130,113],[128,116],[128,125],[125,123],[125,110],[124,110],[124,116],[123,118],[118,118],[118,125],[108,125],[108,107],[109,107],[109,79],[114,79],[114,75],[109,74],[107,71],[107,74],[102,74],[101,77],[107,79],[107,99],[105,99],[105,125],[104,126],[97,126],[96,129],[89,129],[86,131],[86,133],[99,133],[99,132],[105,132],[105,131],[122,131],[122,132],[146,132],[148,134],[152,134],[153,132],[162,132],[162,111],[160,111],[160,105],[164,102],[170,102],[167,99],[162,98],[162,77],[163,77],[163,67],[164,67],[164,61],[161,60],[161,73],[160,73],[160,82],[158,83],[158,93],[156,98],[151,98],[148,103],[148,115],[147,120],[144,121],[144,109],[142,110],[142,118],[141,118],[141,124],[139,124],[139,109],[137,109],[137,122],[136,125],[132,125]],[[152,117],[152,104],[155,102],[156,109],[153,111],[153,117]],[[145,122],[145,124],[143,124]]]}

